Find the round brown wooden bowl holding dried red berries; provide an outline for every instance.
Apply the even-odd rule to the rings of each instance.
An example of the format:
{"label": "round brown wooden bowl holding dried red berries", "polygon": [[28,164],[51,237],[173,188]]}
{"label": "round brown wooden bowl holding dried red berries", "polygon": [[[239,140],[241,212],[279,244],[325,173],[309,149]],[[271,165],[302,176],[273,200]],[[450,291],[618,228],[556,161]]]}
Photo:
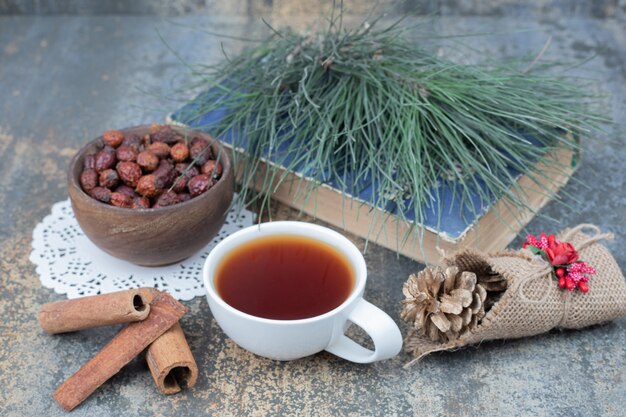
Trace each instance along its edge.
{"label": "round brown wooden bowl holding dried red berries", "polygon": [[[149,128],[148,125],[136,126],[122,132],[143,136]],[[185,134],[184,128],[172,128]],[[184,203],[155,209],[120,208],[90,197],[81,188],[79,177],[85,156],[97,151],[102,137],[78,151],[70,163],[67,188],[76,220],[96,246],[138,265],[167,265],[197,252],[219,232],[233,199],[230,159],[211,135],[190,130],[186,135],[209,141],[214,155],[220,155],[222,176],[204,194]]]}

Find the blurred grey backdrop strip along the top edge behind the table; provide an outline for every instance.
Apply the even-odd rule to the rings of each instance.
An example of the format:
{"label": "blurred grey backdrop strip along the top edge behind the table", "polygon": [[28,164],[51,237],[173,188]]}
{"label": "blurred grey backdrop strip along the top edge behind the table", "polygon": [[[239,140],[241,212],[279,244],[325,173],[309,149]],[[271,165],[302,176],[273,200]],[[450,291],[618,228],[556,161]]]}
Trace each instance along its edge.
{"label": "blurred grey backdrop strip along the top edge behind the table", "polygon": [[[340,0],[336,1],[338,4]],[[306,15],[317,14],[332,0],[0,0],[0,13],[8,14],[142,14],[180,16]],[[416,12],[442,16],[568,16],[624,18],[625,0],[345,0],[352,14],[365,14],[373,4],[386,12]]]}

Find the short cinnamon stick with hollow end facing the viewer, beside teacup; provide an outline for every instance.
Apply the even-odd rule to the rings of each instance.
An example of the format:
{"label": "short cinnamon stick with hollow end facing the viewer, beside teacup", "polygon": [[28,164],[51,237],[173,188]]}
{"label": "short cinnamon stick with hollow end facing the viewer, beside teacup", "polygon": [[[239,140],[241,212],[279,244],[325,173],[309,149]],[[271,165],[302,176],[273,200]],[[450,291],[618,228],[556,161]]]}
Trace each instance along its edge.
{"label": "short cinnamon stick with hollow end facing the viewer, beside teacup", "polygon": [[198,365],[179,323],[152,342],[146,352],[146,361],[163,394],[175,394],[196,384]]}

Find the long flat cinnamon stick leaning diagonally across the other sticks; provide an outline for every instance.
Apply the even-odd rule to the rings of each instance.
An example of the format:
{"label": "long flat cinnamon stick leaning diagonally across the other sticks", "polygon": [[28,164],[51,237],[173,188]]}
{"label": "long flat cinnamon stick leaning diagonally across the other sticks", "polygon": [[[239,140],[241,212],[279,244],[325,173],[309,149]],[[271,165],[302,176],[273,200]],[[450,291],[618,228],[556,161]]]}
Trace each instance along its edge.
{"label": "long flat cinnamon stick leaning diagonally across the other sticks", "polygon": [[145,320],[130,323],[120,330],[96,356],[57,388],[53,394],[55,400],[66,411],[73,410],[176,324],[185,311],[185,307],[168,293],[158,294],[150,304],[150,315]]}

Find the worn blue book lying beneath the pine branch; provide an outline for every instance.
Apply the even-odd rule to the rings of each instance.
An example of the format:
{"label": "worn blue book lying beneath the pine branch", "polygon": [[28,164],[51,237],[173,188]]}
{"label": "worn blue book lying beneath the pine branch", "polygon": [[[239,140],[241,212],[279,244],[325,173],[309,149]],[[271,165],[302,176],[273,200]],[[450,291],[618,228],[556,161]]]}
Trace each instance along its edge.
{"label": "worn blue book lying beneath the pine branch", "polygon": [[[211,133],[212,126],[224,117],[226,110],[218,109],[200,114],[199,108],[208,100],[215,100],[216,94],[207,91],[184,105],[170,116],[168,122],[185,125],[192,129]],[[227,132],[218,139],[232,149],[233,132]],[[537,146],[541,143],[532,137],[529,141]],[[245,140],[237,141],[238,151],[245,152]],[[364,237],[368,242],[376,242],[393,249],[410,258],[436,264],[440,259],[441,250],[455,251],[472,247],[484,251],[501,250],[508,245],[519,231],[532,219],[536,211],[543,207],[570,178],[577,168],[577,158],[571,149],[557,149],[549,155],[556,166],[563,169],[542,169],[550,172],[543,187],[539,187],[530,178],[521,175],[511,168],[509,173],[517,177],[517,182],[524,190],[524,198],[528,209],[508,204],[507,201],[496,201],[481,197],[478,193],[471,201],[462,203],[457,198],[458,185],[450,181],[441,181],[437,189],[431,190],[436,198],[425,210],[425,218],[420,224],[415,223],[411,201],[405,201],[403,213],[397,205],[386,207],[372,206],[372,193],[376,193],[376,184],[360,179],[358,183],[350,183],[350,173],[344,173],[341,179],[322,175],[323,181],[316,180],[319,185],[312,195],[305,193],[309,187],[305,182],[312,181],[313,175],[305,164],[286,176],[272,197],[297,210],[321,219],[350,233]],[[287,149],[278,149],[268,155],[261,169],[266,164],[280,166],[289,161]],[[546,161],[539,162],[545,164]],[[259,177],[263,172],[259,172]],[[339,181],[349,184],[350,194],[342,193]],[[347,189],[347,188],[344,188]],[[415,232],[419,230],[420,232]]]}

